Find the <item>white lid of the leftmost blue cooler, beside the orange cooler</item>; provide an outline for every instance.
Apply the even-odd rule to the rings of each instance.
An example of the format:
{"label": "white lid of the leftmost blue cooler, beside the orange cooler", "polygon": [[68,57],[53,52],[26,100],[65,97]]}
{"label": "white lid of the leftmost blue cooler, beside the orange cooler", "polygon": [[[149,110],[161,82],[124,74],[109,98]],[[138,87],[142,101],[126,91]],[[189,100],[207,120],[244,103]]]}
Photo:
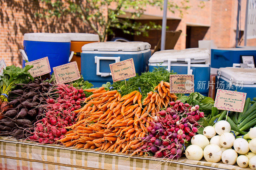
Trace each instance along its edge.
{"label": "white lid of the leftmost blue cooler, beside the orange cooler", "polygon": [[70,42],[70,37],[59,33],[25,33],[25,41]]}

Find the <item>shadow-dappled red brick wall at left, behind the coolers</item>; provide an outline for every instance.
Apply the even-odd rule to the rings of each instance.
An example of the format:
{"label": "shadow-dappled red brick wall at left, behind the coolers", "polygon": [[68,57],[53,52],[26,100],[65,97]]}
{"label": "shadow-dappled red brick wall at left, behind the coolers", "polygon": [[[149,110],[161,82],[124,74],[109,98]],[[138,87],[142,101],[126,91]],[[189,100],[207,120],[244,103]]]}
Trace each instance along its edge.
{"label": "shadow-dappled red brick wall at left, behind the coolers", "polygon": [[41,7],[42,4],[34,0],[0,0],[0,56],[7,65],[21,66],[19,49],[23,49],[25,33],[93,33],[76,17],[38,19],[35,13],[42,12]]}

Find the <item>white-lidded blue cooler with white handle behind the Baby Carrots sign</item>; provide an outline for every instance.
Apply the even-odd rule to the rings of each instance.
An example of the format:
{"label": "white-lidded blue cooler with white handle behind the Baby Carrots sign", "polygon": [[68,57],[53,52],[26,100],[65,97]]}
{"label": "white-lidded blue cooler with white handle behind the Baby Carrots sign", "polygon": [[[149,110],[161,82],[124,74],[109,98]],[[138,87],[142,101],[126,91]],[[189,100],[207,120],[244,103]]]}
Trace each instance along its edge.
{"label": "white-lidded blue cooler with white handle behind the Baby Carrots sign", "polygon": [[147,42],[93,42],[82,47],[81,74],[94,87],[113,82],[109,64],[133,58],[136,73],[148,70],[151,56]]}

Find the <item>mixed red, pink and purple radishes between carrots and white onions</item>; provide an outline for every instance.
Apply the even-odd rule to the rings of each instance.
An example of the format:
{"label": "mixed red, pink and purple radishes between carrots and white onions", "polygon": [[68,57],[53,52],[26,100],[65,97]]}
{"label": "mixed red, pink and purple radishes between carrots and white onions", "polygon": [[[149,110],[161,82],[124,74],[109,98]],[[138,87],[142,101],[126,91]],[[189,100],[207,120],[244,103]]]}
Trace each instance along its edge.
{"label": "mixed red, pink and purple radishes between carrots and white onions", "polygon": [[[183,104],[180,100],[171,102],[170,105],[172,107],[153,117],[154,122],[150,122],[147,127],[149,135],[142,138],[145,144],[140,150],[151,152],[157,158],[179,159],[184,151],[184,144],[198,131],[200,112],[197,111],[199,108],[196,108],[196,112],[192,111],[194,107],[188,103]],[[195,115],[198,115],[199,119]]]}

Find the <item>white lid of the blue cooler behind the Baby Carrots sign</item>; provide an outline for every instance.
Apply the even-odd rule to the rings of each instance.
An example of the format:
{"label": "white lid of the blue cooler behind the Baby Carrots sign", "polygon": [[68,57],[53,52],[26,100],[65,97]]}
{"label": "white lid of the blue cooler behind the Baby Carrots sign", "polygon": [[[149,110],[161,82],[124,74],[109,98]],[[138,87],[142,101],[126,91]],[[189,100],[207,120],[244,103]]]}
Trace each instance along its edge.
{"label": "white lid of the blue cooler behind the Baby Carrots sign", "polygon": [[143,51],[149,49],[150,47],[150,44],[147,42],[107,41],[85,44],[82,47],[82,51]]}

